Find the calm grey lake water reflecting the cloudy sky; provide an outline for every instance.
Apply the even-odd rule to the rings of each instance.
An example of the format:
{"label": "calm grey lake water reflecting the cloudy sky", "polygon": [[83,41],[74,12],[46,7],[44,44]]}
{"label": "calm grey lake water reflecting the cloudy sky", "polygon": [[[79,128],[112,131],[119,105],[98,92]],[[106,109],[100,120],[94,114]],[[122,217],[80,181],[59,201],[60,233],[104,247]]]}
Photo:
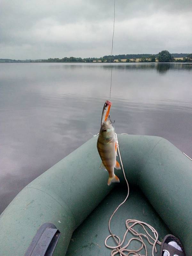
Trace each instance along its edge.
{"label": "calm grey lake water reflecting the cloudy sky", "polygon": [[[112,64],[117,133],[162,136],[192,156],[192,64]],[[108,63],[0,64],[0,212],[100,129]],[[92,134],[91,134],[92,133]]]}

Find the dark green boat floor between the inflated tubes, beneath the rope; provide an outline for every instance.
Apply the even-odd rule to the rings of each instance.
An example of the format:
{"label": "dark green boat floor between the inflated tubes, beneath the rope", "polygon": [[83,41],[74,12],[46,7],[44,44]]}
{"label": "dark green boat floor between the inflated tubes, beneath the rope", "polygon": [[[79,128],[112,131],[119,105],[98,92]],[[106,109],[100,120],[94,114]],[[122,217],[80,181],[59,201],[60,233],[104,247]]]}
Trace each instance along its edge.
{"label": "dark green boat floor between the inflated tubes, beneath the rope", "polygon": [[[106,237],[109,235],[108,220],[118,204],[123,202],[126,195],[127,188],[122,188],[120,185],[117,185],[108,196],[105,197],[87,219],[73,232],[66,256],[110,255],[111,249],[106,248],[104,244]],[[160,242],[165,235],[171,232],[137,187],[130,187],[130,195],[127,201],[119,208],[111,221],[112,232],[119,236],[121,240],[126,231],[125,221],[127,219],[140,220],[150,224],[157,230]],[[137,225],[135,229],[143,233],[141,226]],[[149,231],[149,233],[152,235],[152,232]],[[125,242],[127,243],[132,237],[132,234],[129,232]],[[152,246],[148,244],[145,238],[144,240],[147,245],[148,255],[152,255]],[[108,244],[116,246],[112,238],[108,240]],[[139,242],[133,241],[128,249],[131,248],[135,250],[138,249],[140,245]],[[157,244],[157,254],[155,255],[159,255],[159,251],[160,246]],[[144,249],[142,249],[140,254],[145,254]]]}

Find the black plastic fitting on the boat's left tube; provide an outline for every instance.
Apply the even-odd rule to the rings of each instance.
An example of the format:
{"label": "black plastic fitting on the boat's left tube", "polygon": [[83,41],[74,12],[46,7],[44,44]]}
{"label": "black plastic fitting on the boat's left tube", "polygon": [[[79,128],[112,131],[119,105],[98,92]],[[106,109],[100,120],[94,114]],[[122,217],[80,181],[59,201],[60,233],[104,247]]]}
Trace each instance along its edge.
{"label": "black plastic fitting on the boat's left tube", "polygon": [[60,231],[52,223],[44,223],[37,230],[24,256],[52,256]]}

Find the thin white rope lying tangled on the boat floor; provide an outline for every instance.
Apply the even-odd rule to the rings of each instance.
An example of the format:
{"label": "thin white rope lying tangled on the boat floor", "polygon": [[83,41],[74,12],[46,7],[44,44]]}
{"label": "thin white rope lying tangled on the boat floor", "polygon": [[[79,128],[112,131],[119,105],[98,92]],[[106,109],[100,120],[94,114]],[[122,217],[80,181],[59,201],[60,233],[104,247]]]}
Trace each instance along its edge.
{"label": "thin white rope lying tangled on the boat floor", "polygon": [[[124,134],[125,134],[125,133],[124,133]],[[115,215],[115,213],[117,212],[117,210],[119,209],[119,207],[120,207],[122,204],[124,204],[124,203],[126,202],[128,196],[129,196],[129,184],[128,184],[128,181],[127,181],[126,176],[125,176],[125,172],[124,172],[124,168],[123,168],[123,163],[122,163],[122,159],[121,159],[121,154],[120,154],[120,151],[119,151],[119,144],[118,144],[117,134],[116,134],[116,133],[115,133],[115,136],[116,136],[117,150],[118,150],[118,153],[119,153],[119,158],[120,158],[120,162],[121,162],[121,166],[122,166],[124,178],[125,178],[125,181],[126,181],[126,183],[127,183],[127,196],[126,196],[125,200],[124,200],[121,204],[119,204],[119,205],[117,206],[117,208],[115,209],[115,211],[113,212],[113,214],[111,215],[111,217],[110,217],[110,219],[109,219],[108,228],[109,228],[110,235],[105,239],[105,246],[106,246],[107,248],[113,249],[113,250],[111,251],[111,256],[115,256],[115,255],[118,254],[118,253],[120,254],[120,256],[128,256],[128,255],[130,255],[130,254],[132,254],[133,256],[141,256],[141,254],[139,254],[139,252],[140,252],[143,248],[145,249],[145,256],[147,256],[147,255],[148,255],[148,252],[147,252],[147,246],[146,246],[145,242],[143,241],[143,237],[144,237],[144,238],[147,239],[147,241],[148,241],[149,244],[153,245],[153,248],[152,248],[152,256],[154,256],[154,250],[155,250],[155,252],[157,252],[156,244],[161,245],[161,242],[159,242],[159,240],[158,240],[158,233],[157,233],[156,229],[153,228],[153,227],[152,227],[151,225],[149,225],[148,223],[143,222],[143,221],[140,221],[140,220],[130,220],[130,219],[126,220],[126,221],[125,221],[125,225],[126,225],[127,230],[126,230],[126,232],[125,232],[125,234],[124,234],[124,237],[123,237],[122,242],[121,242],[121,240],[120,240],[120,238],[119,238],[118,236],[116,236],[116,235],[114,235],[114,234],[112,233],[111,228],[110,228],[110,223],[111,223],[111,220],[112,220],[113,216]],[[145,233],[146,233],[147,235],[146,235],[146,234],[142,234],[142,233],[138,233],[135,229],[133,229],[133,227],[134,227],[135,225],[137,225],[137,224],[140,225],[140,226],[143,228],[143,230],[145,231]],[[147,231],[147,229],[145,228],[145,226],[148,227],[148,228],[153,232],[154,237],[152,237],[152,236],[148,233],[148,231]],[[128,241],[128,243],[123,246],[124,241],[125,241],[125,238],[126,238],[128,232],[131,232],[132,235],[135,236],[135,237],[132,237],[132,238]],[[115,240],[117,246],[109,246],[109,245],[107,244],[107,240],[108,240],[110,237],[113,237],[113,238],[114,238],[114,240]],[[150,239],[151,239],[152,241],[150,241]],[[140,248],[137,249],[137,250],[127,249],[127,247],[129,246],[129,244],[130,244],[132,241],[134,241],[134,240],[139,241],[139,242],[141,243]],[[126,252],[126,254],[125,254],[125,252]]]}

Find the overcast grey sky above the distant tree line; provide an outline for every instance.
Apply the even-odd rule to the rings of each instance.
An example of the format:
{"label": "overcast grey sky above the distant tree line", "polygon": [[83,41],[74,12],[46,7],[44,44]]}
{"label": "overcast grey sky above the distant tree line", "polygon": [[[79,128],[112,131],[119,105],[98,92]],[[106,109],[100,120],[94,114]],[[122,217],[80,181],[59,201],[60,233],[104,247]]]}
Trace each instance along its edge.
{"label": "overcast grey sky above the distant tree line", "polygon": [[[115,0],[113,54],[192,52],[192,0]],[[1,0],[0,58],[110,54],[113,0]]]}

